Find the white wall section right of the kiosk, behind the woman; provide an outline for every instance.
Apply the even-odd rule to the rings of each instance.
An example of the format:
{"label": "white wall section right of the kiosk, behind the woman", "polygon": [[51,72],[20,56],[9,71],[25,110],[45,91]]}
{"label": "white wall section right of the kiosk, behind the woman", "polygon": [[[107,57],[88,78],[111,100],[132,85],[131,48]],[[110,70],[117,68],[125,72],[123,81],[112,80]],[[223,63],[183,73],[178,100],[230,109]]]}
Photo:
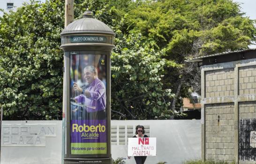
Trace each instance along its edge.
{"label": "white wall section right of the kiosk, behind the woman", "polygon": [[[200,120],[112,120],[112,126],[147,125],[150,137],[157,138],[157,156],[147,157],[146,164],[167,162],[181,164],[188,159],[201,158]],[[112,145],[112,157],[127,157],[127,145]],[[135,164],[135,160],[125,160],[126,164]]]}

